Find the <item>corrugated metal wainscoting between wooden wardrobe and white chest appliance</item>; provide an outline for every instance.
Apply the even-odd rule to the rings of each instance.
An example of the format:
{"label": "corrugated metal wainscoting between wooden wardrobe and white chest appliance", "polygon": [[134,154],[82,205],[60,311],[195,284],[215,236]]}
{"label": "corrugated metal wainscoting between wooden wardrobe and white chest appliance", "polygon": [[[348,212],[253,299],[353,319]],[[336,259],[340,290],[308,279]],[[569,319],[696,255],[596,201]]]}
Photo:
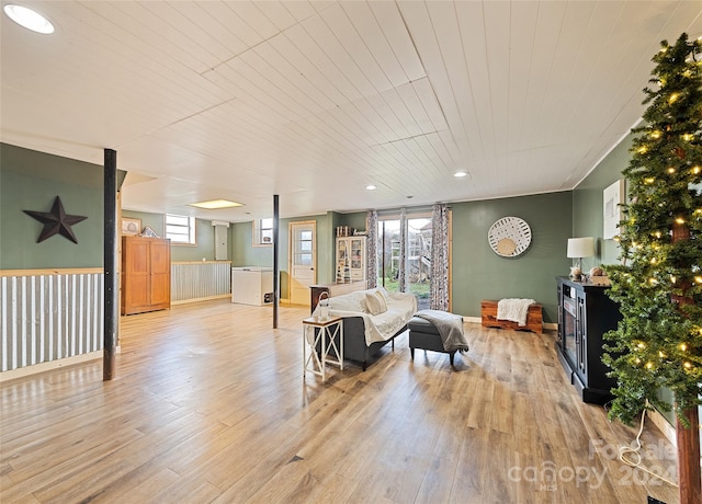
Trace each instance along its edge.
{"label": "corrugated metal wainscoting between wooden wardrobe and white chest appliance", "polygon": [[231,261],[171,263],[171,303],[231,295]]}

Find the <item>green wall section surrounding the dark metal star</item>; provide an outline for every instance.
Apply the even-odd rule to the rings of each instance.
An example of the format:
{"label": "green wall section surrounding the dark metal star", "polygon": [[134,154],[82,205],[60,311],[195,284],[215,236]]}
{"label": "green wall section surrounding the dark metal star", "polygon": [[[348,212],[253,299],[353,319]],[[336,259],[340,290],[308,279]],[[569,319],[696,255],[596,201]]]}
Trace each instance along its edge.
{"label": "green wall section surrounding the dark metal star", "polygon": [[[0,270],[102,267],[103,177],[98,164],[0,144]],[[60,196],[78,244],[60,234],[36,242],[44,225],[22,210],[50,211]]]}

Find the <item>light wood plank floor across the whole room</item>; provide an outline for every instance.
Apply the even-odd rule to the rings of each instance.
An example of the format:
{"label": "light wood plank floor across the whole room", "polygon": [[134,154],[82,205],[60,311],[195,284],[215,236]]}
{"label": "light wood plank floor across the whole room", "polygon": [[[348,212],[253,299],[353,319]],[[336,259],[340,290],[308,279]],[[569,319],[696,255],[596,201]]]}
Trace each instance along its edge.
{"label": "light wood plank floor across the whole room", "polygon": [[[407,335],[363,373],[303,381],[303,308],[227,300],[122,322],[102,363],[0,387],[0,501],[645,503],[677,490],[622,466],[634,428],[566,382],[554,335],[466,324],[471,352]],[[647,423],[646,463],[675,451]]]}

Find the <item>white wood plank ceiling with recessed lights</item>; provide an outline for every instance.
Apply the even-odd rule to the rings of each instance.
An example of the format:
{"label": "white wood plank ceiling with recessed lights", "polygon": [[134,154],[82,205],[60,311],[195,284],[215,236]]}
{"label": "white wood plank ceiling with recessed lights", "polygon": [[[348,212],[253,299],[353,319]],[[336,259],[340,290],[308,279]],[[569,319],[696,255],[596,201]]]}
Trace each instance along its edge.
{"label": "white wood plank ceiling with recessed lights", "polygon": [[57,32],[2,15],[0,139],[113,148],[125,208],[230,221],[573,188],[702,35],[699,1],[18,3]]}

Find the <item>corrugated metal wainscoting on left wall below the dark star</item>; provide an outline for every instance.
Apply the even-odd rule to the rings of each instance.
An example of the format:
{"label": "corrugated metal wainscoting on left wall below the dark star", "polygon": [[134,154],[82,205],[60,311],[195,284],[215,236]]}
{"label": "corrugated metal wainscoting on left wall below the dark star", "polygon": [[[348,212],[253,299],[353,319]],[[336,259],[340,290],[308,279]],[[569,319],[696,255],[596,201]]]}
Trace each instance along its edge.
{"label": "corrugated metal wainscoting on left wall below the dark star", "polygon": [[103,348],[102,268],[0,272],[0,371]]}

